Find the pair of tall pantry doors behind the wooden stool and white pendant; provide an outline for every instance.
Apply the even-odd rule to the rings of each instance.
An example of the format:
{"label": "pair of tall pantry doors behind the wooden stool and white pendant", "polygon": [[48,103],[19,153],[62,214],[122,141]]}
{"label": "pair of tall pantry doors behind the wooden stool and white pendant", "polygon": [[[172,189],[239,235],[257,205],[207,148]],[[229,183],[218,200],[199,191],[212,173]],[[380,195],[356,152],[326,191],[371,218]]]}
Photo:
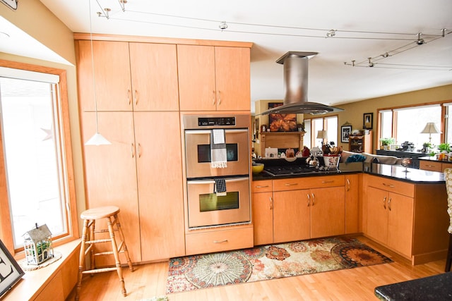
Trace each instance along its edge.
{"label": "pair of tall pantry doors behind the wooden stool and white pendant", "polygon": [[[98,117],[100,133],[112,145],[84,147],[87,207],[114,204],[121,209],[133,262],[184,255],[179,113],[98,112]],[[93,133],[95,113],[85,112],[83,137]],[[162,149],[171,154],[161,156]],[[113,263],[99,260],[100,265]]]}

